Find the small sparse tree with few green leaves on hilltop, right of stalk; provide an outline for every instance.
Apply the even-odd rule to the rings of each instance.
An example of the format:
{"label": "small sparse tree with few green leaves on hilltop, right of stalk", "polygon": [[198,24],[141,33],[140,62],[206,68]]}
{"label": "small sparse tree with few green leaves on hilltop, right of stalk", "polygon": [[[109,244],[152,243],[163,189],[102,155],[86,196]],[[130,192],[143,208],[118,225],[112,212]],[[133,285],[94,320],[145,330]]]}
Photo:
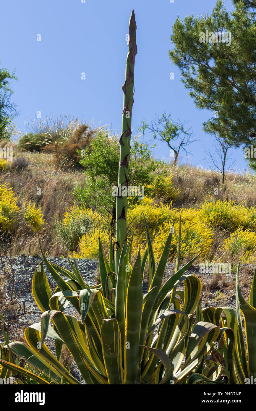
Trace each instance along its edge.
{"label": "small sparse tree with few green leaves on hilltop, right of stalk", "polygon": [[153,133],[154,139],[167,143],[168,147],[173,151],[174,166],[177,164],[180,151],[183,150],[187,154],[191,154],[191,152],[187,151],[186,147],[194,143],[194,141],[199,141],[191,140],[194,137],[194,133],[191,131],[191,127],[185,128],[186,124],[187,122],[182,123],[179,119],[175,123],[171,119],[171,114],[167,116],[166,113],[163,113],[161,117],[156,116],[156,119],[152,120],[150,126],[147,127]]}

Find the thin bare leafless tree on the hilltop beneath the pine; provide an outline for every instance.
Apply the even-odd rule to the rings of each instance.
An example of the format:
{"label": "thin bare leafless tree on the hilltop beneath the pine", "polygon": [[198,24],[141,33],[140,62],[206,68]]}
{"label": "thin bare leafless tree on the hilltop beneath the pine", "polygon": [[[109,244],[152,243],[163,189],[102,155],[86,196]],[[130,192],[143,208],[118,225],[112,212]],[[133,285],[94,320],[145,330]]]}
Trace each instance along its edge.
{"label": "thin bare leafless tree on the hilltop beneath the pine", "polygon": [[212,163],[212,168],[216,168],[221,172],[222,175],[222,184],[225,180],[225,175],[227,171],[232,170],[232,166],[235,163],[235,160],[232,159],[231,153],[228,153],[228,150],[232,147],[228,142],[225,141],[223,137],[216,136],[216,145],[213,150],[205,150],[205,153],[208,157],[205,157],[205,162]]}

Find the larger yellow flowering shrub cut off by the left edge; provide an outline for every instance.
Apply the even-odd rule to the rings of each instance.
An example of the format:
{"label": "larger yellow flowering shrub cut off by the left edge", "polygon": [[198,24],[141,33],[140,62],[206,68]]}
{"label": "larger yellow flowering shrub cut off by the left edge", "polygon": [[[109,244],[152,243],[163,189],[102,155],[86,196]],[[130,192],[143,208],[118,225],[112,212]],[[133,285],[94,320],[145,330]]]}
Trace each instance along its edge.
{"label": "larger yellow flowering shrub cut off by the left edge", "polygon": [[14,196],[15,193],[12,187],[9,187],[9,183],[0,184],[0,226],[3,231],[11,229],[20,210],[16,205],[17,199]]}

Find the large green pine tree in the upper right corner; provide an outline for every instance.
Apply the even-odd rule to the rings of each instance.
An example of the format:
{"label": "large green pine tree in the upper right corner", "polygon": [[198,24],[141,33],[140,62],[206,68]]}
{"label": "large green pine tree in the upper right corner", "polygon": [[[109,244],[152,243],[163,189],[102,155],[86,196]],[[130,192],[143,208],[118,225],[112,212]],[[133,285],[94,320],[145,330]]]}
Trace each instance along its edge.
{"label": "large green pine tree in the upper right corner", "polygon": [[256,1],[233,4],[232,13],[218,0],[212,14],[177,17],[169,55],[196,107],[212,112],[203,130],[249,147],[256,143]]}

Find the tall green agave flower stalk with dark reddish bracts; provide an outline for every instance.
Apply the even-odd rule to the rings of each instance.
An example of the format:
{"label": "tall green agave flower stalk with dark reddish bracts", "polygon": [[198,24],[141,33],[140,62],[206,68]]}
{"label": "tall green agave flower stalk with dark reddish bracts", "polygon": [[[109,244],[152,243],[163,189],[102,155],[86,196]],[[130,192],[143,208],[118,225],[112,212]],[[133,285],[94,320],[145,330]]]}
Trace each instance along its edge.
{"label": "tall green agave flower stalk with dark reddish bracts", "polygon": [[[124,104],[122,111],[122,132],[119,140],[120,143],[120,162],[118,170],[118,187],[119,193],[122,193],[122,187],[128,185],[128,169],[130,159],[131,145],[131,112],[134,104],[134,62],[137,54],[136,46],[136,22],[134,10],[131,12],[129,20],[129,36],[128,36],[128,54],[126,59],[125,82],[122,85],[124,92]],[[127,196],[118,194],[116,198],[116,257],[120,255],[120,249],[127,240],[126,234],[126,212],[127,212]],[[116,258],[116,264],[118,264]]]}

